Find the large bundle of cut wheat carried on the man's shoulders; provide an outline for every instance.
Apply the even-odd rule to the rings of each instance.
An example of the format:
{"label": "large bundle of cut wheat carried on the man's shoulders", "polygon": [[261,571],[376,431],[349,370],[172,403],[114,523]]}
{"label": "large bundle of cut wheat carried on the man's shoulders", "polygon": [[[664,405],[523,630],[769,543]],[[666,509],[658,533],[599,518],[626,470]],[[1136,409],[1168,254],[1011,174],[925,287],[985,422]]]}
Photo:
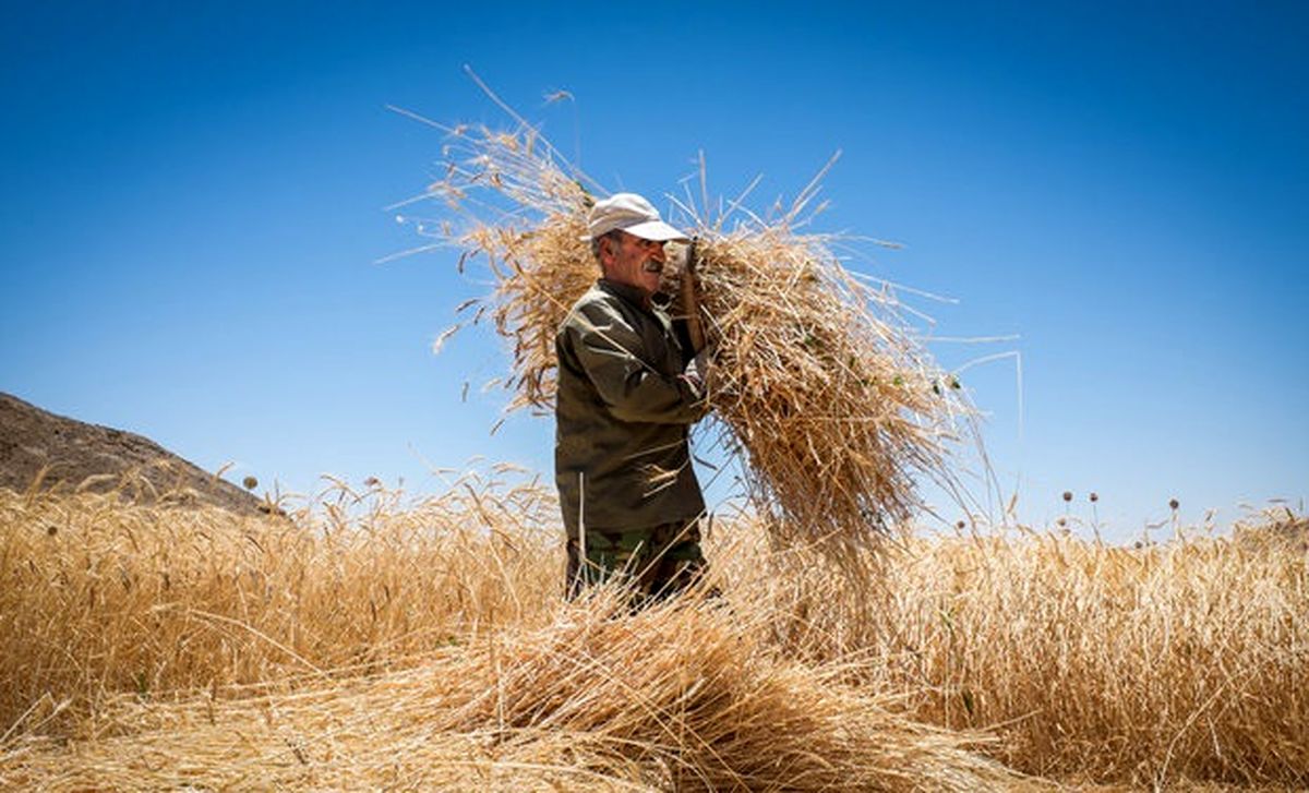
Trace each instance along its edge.
{"label": "large bundle of cut wheat carried on the man's shoulders", "polygon": [[[513,342],[511,407],[548,408],[555,331],[600,273],[581,239],[586,178],[530,127],[448,132],[445,175],[420,198],[454,220],[423,233],[462,247],[461,268],[470,256],[490,263],[496,291],[476,317],[490,311]],[[831,238],[797,230],[817,185],[772,219],[740,199],[711,219],[708,199],[696,207],[687,195],[674,199],[674,220],[699,238],[698,285],[716,351],[709,402],[725,429],[716,437],[738,455],[754,506],[780,539],[860,544],[911,514],[915,474],[957,485],[949,442],[970,432],[970,411],[890,291],[847,271]]]}

